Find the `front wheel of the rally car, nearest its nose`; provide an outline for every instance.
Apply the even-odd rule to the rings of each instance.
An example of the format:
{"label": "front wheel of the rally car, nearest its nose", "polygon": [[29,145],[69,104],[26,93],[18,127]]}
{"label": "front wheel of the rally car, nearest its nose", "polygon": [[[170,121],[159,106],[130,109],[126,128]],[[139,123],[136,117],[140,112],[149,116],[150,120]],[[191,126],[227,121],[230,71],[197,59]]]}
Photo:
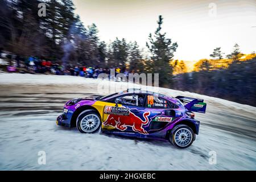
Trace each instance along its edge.
{"label": "front wheel of the rally car, nearest its nose", "polygon": [[95,133],[101,127],[101,117],[93,109],[82,111],[76,119],[76,127],[81,133]]}

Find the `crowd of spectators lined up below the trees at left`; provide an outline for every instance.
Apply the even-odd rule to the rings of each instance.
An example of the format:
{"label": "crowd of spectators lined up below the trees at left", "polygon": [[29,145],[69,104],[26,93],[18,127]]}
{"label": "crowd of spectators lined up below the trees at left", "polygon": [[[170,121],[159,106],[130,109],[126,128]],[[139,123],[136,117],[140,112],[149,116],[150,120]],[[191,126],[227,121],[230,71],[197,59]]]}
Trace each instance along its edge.
{"label": "crowd of spectators lined up below the trees at left", "polygon": [[[72,65],[67,64],[63,66],[61,61],[52,62],[46,59],[40,59],[35,56],[20,57],[19,55],[11,55],[0,52],[1,57],[8,61],[6,70],[8,72],[20,72],[20,73],[40,73],[40,74],[52,74],[52,75],[71,75],[81,76],[88,78],[97,78],[100,73],[106,73],[110,75],[110,68],[90,67],[85,65]],[[124,73],[128,76],[129,72],[125,68],[115,68],[115,75],[118,73]]]}

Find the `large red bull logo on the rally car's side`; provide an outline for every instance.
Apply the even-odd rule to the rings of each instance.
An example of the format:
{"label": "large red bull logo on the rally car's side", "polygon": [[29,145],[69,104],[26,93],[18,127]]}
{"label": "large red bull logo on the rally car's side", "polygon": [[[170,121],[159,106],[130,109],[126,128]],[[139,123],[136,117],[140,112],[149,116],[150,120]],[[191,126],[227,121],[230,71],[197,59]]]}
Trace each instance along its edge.
{"label": "large red bull logo on the rally car's side", "polygon": [[143,125],[147,125],[149,119],[148,116],[150,115],[150,112],[143,113],[144,121],[139,118],[134,113],[130,112],[129,117],[125,115],[114,115],[110,114],[106,121],[103,123],[104,126],[113,126],[118,130],[125,131],[127,129],[127,126],[131,126],[133,131],[137,131],[141,134],[148,134],[147,131],[143,129]]}

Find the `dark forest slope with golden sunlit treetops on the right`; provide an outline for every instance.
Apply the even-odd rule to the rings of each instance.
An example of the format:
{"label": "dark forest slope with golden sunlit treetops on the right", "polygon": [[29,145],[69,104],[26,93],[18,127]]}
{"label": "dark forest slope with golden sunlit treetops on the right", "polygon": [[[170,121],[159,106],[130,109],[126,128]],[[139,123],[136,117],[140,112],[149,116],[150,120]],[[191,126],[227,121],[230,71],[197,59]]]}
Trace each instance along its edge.
{"label": "dark forest slope with golden sunlit treetops on the right", "polygon": [[197,71],[177,74],[172,88],[256,106],[256,57],[251,56],[231,60],[227,68],[214,68],[214,61],[220,60],[201,60],[194,67]]}

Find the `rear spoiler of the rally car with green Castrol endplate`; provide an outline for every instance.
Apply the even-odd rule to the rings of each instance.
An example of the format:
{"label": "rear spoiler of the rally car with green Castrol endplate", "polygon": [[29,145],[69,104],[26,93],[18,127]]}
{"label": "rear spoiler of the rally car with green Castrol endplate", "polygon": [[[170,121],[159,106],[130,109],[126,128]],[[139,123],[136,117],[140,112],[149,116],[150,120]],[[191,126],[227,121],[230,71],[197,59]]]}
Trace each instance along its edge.
{"label": "rear spoiler of the rally car with green Castrol endplate", "polygon": [[175,98],[183,102],[183,104],[189,111],[194,111],[197,113],[205,113],[207,104],[204,102],[204,100],[199,98],[184,97],[184,96],[177,96]]}

